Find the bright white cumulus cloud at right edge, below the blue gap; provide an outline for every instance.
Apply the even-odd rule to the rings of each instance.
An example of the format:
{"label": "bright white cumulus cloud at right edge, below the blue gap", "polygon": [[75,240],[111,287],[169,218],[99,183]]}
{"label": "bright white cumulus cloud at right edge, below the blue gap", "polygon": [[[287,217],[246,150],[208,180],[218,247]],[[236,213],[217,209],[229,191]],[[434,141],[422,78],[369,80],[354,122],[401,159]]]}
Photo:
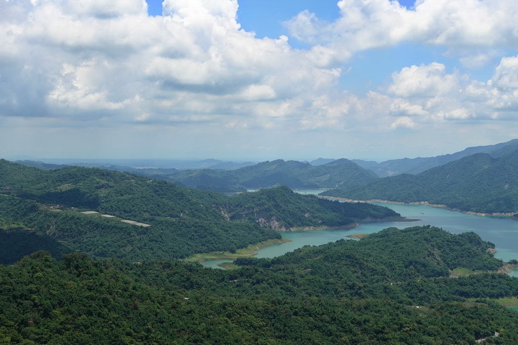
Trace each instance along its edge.
{"label": "bright white cumulus cloud at right edge, below the blue gap", "polygon": [[503,57],[486,83],[445,73],[444,65],[404,67],[386,91],[391,112],[421,121],[511,119],[518,109],[518,57]]}

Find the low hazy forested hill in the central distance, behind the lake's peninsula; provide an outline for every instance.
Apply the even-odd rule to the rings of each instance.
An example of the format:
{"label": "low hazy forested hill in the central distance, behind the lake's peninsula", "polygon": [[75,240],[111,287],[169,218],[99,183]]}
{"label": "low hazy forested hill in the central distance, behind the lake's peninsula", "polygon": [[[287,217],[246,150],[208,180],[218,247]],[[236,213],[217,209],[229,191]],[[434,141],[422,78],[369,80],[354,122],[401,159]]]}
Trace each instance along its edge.
{"label": "low hazy forested hill in the central distance, behind the lake's peninsula", "polygon": [[286,185],[290,188],[330,188],[353,186],[376,179],[372,171],[339,159],[313,166],[298,161],[267,161],[236,170],[182,170],[169,179],[197,189],[221,190],[225,186],[264,188]]}

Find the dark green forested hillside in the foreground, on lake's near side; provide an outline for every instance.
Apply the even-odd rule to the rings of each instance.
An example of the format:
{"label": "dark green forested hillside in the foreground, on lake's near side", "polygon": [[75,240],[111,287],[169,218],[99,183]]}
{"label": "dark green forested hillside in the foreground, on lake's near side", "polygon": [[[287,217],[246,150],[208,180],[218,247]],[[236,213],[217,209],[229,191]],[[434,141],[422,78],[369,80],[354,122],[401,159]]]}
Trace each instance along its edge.
{"label": "dark green forested hillside in the foreground, on lake's near side", "polygon": [[[45,252],[0,266],[5,343],[514,344],[518,296],[473,233],[386,229],[215,270]],[[397,255],[395,255],[397,253]],[[28,282],[28,283],[27,283]],[[95,298],[92,298],[95,296]]]}

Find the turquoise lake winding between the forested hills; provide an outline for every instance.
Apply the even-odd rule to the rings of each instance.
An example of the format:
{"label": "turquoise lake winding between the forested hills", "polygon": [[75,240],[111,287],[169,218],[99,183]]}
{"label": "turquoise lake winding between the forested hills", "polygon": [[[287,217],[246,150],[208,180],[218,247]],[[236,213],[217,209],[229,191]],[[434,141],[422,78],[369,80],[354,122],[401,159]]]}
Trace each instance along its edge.
{"label": "turquoise lake winding between the forested hills", "polygon": [[[302,194],[318,194],[322,191],[301,190]],[[424,205],[395,205],[375,203],[386,206],[400,213],[408,219],[420,219],[415,222],[380,222],[362,223],[354,229],[344,230],[319,230],[319,231],[292,231],[283,232],[282,236],[291,239],[292,242],[271,245],[256,251],[256,257],[275,257],[293,251],[305,245],[316,246],[328,242],[335,242],[352,234],[372,234],[384,228],[395,226],[405,228],[416,225],[433,225],[442,227],[453,234],[460,234],[472,231],[478,234],[483,240],[495,243],[497,252],[495,257],[509,261],[518,260],[518,222],[503,218],[481,217],[479,215],[465,214],[450,211],[438,207]],[[203,263],[204,266],[219,268],[218,263],[230,262],[229,260],[210,260]],[[518,276],[518,271],[513,272]]]}

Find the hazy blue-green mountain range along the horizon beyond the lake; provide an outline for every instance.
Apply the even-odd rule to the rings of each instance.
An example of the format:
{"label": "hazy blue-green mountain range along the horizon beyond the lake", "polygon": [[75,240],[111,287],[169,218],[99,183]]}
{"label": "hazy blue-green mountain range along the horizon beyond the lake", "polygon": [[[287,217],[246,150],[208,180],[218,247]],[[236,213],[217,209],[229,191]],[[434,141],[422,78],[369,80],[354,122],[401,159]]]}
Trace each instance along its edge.
{"label": "hazy blue-green mountain range along the horizon beyond the lake", "polygon": [[[453,154],[382,163],[320,158],[310,163],[266,161],[234,170],[137,169],[114,165],[107,168],[215,192],[236,193],[286,185],[292,189],[334,189],[323,195],[346,199],[428,202],[462,211],[516,213],[515,172],[518,164],[513,152],[517,149],[518,139],[513,139],[496,145],[470,147]],[[20,163],[42,169],[62,167],[34,161]],[[199,164],[224,163],[207,160]],[[494,168],[483,168],[486,165]],[[377,174],[385,178],[391,175],[391,178],[379,178]]]}

